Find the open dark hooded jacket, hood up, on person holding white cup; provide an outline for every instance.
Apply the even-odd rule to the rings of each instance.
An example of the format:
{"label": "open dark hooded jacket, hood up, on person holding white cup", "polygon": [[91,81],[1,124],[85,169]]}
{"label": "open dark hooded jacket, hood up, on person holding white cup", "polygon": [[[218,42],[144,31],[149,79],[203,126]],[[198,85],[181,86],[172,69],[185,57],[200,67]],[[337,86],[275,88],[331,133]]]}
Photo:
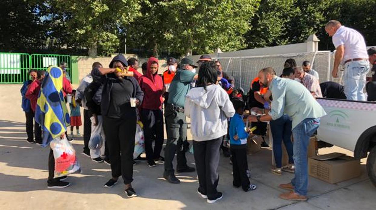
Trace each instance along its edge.
{"label": "open dark hooded jacket, hood up, on person holding white cup", "polygon": [[[120,61],[121,63],[123,63],[124,66],[128,66],[128,62],[122,54],[118,54],[111,60],[110,65],[109,65],[110,68],[112,68],[112,64],[115,61]],[[108,109],[110,106],[110,101],[111,101],[112,85],[116,80],[118,80],[118,78],[115,76],[114,73],[102,75],[98,68],[94,68],[91,71],[91,75],[93,77],[93,82],[98,81],[101,84],[103,84],[101,112],[103,116],[107,116]],[[129,80],[132,83],[133,85],[132,97],[137,98],[142,103],[143,98],[144,98],[144,92],[141,91],[141,88],[138,85],[137,80],[134,77],[124,77],[123,79]]]}

